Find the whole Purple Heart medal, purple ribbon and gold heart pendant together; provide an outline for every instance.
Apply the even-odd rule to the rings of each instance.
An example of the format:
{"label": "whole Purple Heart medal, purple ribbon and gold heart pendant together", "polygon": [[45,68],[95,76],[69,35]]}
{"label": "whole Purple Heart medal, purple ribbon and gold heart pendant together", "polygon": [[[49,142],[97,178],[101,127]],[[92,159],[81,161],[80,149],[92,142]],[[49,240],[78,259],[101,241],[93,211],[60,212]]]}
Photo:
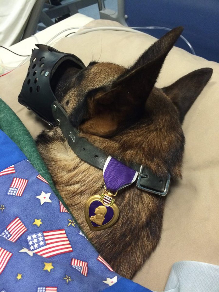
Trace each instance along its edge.
{"label": "whole Purple Heart medal, purple ribbon and gold heart pendant together", "polygon": [[131,185],[138,172],[109,156],[103,168],[104,192],[86,202],[85,218],[92,231],[106,229],[116,223],[119,208],[115,202],[118,190]]}

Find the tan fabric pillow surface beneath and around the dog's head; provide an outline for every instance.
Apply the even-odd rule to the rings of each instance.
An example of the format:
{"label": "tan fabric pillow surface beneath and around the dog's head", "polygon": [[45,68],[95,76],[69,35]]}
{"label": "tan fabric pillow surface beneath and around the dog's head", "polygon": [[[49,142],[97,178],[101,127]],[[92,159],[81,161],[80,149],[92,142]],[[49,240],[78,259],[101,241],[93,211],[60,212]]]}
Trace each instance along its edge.
{"label": "tan fabric pillow surface beneath and around the dog's head", "polygon": [[[89,26],[117,26],[94,20]],[[85,65],[92,60],[130,65],[154,38],[121,31],[97,31],[60,40],[60,51],[74,53]],[[33,137],[45,127],[17,102],[28,64],[0,78],[0,97],[18,114]],[[168,194],[162,239],[156,251],[134,277],[153,290],[163,290],[173,263],[196,260],[219,265],[219,64],[173,48],[161,71],[158,87],[167,86],[201,67],[213,68],[213,76],[187,113],[183,179]]]}

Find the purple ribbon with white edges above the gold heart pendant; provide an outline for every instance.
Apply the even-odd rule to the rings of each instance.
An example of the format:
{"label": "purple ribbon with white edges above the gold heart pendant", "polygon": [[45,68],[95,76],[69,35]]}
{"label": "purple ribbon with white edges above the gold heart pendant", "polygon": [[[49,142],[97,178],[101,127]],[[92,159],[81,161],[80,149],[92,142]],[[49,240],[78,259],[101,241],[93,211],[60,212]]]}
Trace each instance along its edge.
{"label": "purple ribbon with white edges above the gold heart pendant", "polygon": [[103,178],[108,191],[116,192],[134,183],[138,171],[109,156],[103,168]]}

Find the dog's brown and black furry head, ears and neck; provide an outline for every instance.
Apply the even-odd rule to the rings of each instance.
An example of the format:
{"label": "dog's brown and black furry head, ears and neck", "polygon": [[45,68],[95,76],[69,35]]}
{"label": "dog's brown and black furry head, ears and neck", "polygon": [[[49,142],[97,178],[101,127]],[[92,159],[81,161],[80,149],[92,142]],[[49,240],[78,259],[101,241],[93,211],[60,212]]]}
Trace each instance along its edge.
{"label": "dog's brown and black furry head, ears and neck", "polygon": [[[61,67],[52,80],[57,99],[82,137],[112,157],[147,165],[161,178],[168,173],[172,179],[181,177],[181,123],[212,74],[211,68],[203,68],[166,88],[154,87],[181,32],[181,27],[168,32],[128,69],[92,62],[83,70],[62,72]],[[36,142],[55,186],[91,242],[116,272],[133,277],[159,242],[165,198],[135,184],[126,187],[116,197],[117,223],[92,232],[84,208],[87,199],[102,192],[102,171],[81,161],[58,127],[43,131]]]}

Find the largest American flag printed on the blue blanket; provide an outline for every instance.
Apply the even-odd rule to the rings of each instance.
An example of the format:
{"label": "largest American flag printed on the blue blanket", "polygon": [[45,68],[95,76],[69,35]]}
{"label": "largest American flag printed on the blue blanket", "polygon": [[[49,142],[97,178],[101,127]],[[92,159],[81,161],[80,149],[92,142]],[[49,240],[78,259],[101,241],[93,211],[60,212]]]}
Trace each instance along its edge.
{"label": "largest American flag printed on the blue blanket", "polygon": [[51,256],[73,251],[65,229],[36,232],[27,236],[29,249],[39,256]]}

